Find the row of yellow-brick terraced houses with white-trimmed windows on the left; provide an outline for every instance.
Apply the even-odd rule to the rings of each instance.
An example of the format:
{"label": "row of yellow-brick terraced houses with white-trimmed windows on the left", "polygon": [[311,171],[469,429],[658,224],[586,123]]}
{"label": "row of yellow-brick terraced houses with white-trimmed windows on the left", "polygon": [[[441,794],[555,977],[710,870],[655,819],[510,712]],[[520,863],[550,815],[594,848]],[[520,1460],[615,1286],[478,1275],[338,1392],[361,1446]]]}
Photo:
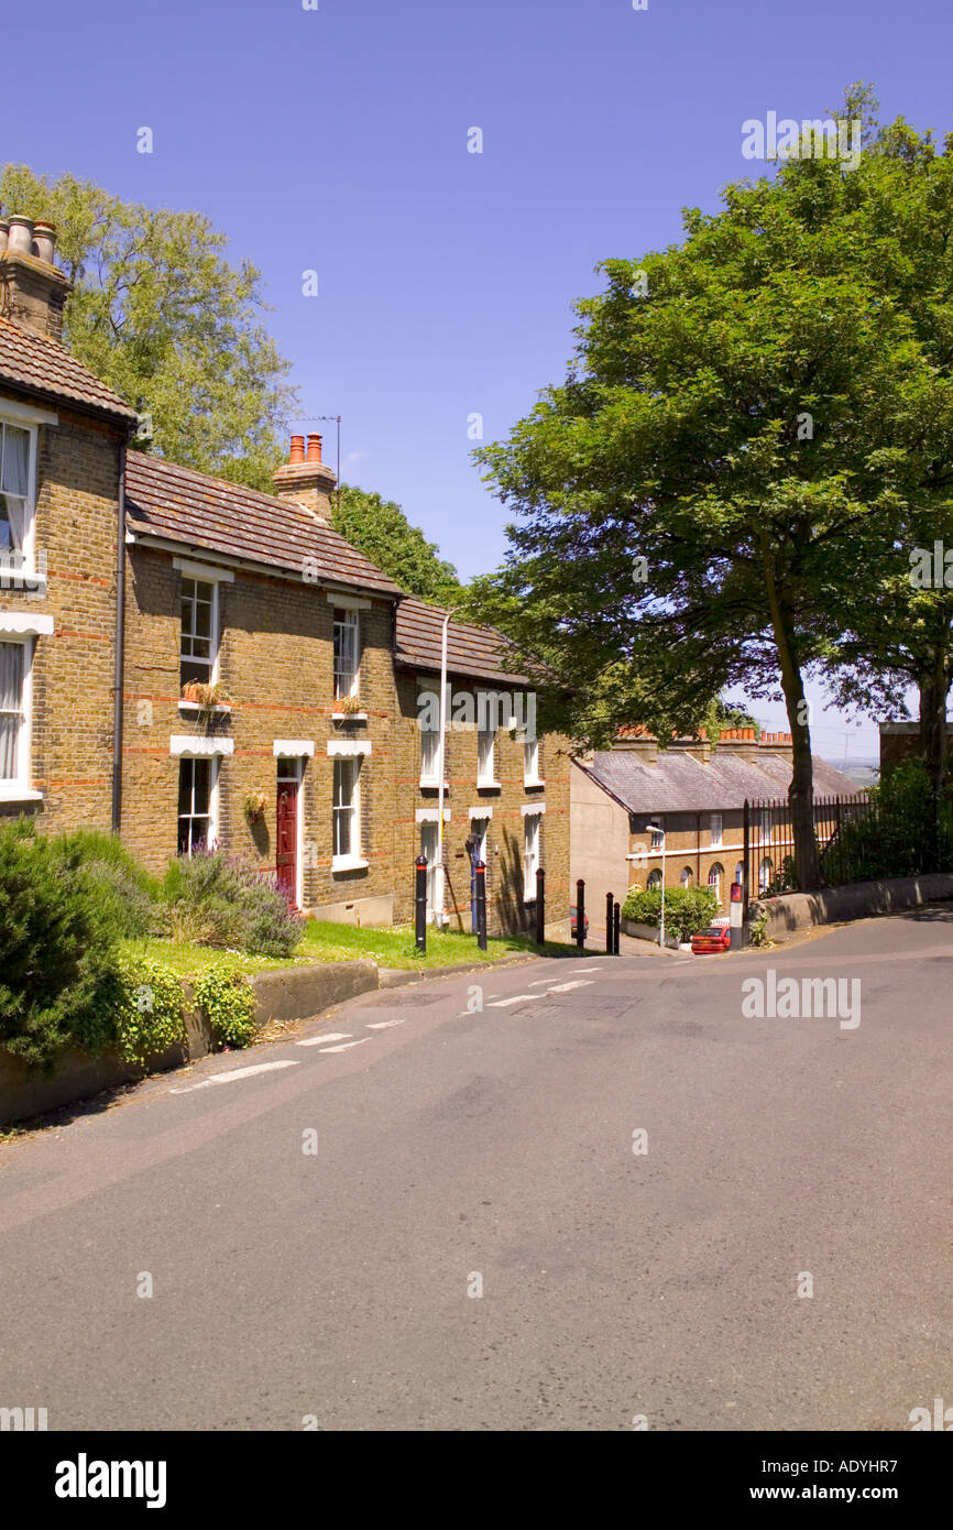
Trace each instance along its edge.
{"label": "row of yellow-brick terraced houses with white-trimmed windows on the left", "polygon": [[[0,239],[3,236],[0,228]],[[52,231],[0,252],[0,814],[113,828],[147,866],[220,845],[323,918],[407,920],[437,858],[444,612],[330,526],[335,476],[294,436],[274,494],[130,448],[136,415],[60,343]],[[450,621],[445,909],[491,930],[569,904],[569,754],[514,710],[490,629]],[[477,702],[497,698],[480,730]],[[468,715],[462,696],[471,698]],[[520,731],[523,725],[523,731]],[[436,907],[434,907],[436,913]]]}

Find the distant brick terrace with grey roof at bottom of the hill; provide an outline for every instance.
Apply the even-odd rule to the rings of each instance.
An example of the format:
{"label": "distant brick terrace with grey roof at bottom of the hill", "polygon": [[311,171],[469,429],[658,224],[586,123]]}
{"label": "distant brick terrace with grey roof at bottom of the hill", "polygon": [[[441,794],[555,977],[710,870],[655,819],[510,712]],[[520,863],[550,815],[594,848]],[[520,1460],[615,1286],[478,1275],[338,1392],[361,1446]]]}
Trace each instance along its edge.
{"label": "distant brick terrace with grey roof at bottom of the hill", "polygon": [[[586,881],[586,906],[600,920],[606,894],[621,903],[629,887],[708,884],[728,912],[730,884],[740,881],[745,799],[785,797],[792,773],[789,733],[727,728],[717,745],[705,736],[673,739],[659,750],[642,728],[623,728],[612,750],[572,762],[572,883]],[[814,756],[818,796],[857,796],[857,783]],[[652,834],[650,825],[664,831]],[[777,831],[757,845],[759,883],[782,869],[789,843]]]}

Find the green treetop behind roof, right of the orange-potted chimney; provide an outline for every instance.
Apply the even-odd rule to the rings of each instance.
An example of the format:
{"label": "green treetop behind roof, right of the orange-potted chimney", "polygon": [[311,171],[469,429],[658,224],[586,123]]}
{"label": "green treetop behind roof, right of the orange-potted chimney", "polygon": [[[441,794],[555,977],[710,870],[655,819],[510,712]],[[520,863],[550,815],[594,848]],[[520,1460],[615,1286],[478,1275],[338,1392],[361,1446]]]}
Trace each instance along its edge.
{"label": "green treetop behind roof, right of the orange-potted chimney", "polygon": [[457,571],[441,558],[439,548],[425,540],[419,526],[410,525],[392,499],[343,483],[332,525],[410,595],[444,606],[459,600]]}

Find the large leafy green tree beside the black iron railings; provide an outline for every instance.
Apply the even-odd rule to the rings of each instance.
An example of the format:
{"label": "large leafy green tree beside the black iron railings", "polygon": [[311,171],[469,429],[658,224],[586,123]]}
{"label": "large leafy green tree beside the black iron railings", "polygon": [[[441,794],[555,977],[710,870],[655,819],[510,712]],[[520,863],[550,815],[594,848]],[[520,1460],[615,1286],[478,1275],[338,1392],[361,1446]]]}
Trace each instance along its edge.
{"label": "large leafy green tree beside the black iron railings", "polygon": [[[854,87],[843,116],[867,103]],[[514,664],[555,678],[540,715],[589,742],[620,721],[665,737],[727,687],[780,690],[805,889],[820,881],[805,676],[843,662],[847,607],[875,598],[909,513],[906,442],[919,428],[942,456],[953,439],[947,381],[893,260],[873,259],[895,237],[886,171],[906,162],[896,133],[869,130],[857,168],[791,159],[730,185],[716,214],[685,211],[679,246],[606,262],[566,381],[477,451],[519,519],[471,609],[514,640]]]}

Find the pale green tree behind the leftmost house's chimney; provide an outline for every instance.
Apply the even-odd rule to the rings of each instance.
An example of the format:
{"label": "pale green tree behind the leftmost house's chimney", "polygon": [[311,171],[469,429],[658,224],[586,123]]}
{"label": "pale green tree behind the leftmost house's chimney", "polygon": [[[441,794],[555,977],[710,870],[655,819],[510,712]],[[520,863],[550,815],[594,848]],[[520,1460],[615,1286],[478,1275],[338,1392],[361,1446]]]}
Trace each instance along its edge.
{"label": "pale green tree behind the leftmost house's chimney", "polygon": [[26,165],[3,167],[0,200],[57,225],[73,282],[64,343],[151,418],[139,444],[269,491],[295,395],[262,324],[260,272],[225,259],[225,234],[202,213],[139,207]]}

